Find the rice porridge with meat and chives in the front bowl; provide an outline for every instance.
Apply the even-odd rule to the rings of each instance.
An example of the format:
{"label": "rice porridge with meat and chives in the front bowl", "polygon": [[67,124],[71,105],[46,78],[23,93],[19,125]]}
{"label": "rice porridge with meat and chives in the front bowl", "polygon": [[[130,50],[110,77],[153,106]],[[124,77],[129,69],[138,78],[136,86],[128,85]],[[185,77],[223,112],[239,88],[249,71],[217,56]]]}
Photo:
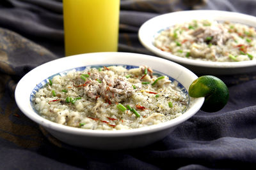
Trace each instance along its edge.
{"label": "rice porridge with meat and chives in the front bowl", "polygon": [[182,115],[188,96],[147,66],[86,67],[56,75],[32,99],[42,117],[83,129],[120,130]]}

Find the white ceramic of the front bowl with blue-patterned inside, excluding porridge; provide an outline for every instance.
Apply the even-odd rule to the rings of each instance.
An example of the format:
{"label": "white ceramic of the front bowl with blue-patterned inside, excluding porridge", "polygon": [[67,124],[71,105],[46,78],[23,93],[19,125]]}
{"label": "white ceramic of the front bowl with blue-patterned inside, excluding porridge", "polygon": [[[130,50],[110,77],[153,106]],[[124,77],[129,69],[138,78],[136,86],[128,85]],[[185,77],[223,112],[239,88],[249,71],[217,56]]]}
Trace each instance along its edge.
{"label": "white ceramic of the front bowl with blue-patterned inside, excluding porridge", "polygon": [[100,150],[136,148],[163,139],[175,127],[188,120],[188,118],[200,110],[204,103],[204,97],[190,98],[189,108],[180,117],[163,124],[125,131],[100,131],[68,127],[46,120],[33,110],[31,106],[33,90],[40,87],[42,82],[52,75],[84,66],[109,66],[116,64],[150,66],[152,69],[172,77],[173,80],[179,81],[180,85],[184,86],[184,90],[188,89],[192,81],[197,78],[194,73],[185,67],[158,57],[120,52],[87,53],[52,60],[29,71],[17,84],[15,89],[16,103],[27,117],[42,125],[52,136],[60,139],[60,141],[74,146]]}

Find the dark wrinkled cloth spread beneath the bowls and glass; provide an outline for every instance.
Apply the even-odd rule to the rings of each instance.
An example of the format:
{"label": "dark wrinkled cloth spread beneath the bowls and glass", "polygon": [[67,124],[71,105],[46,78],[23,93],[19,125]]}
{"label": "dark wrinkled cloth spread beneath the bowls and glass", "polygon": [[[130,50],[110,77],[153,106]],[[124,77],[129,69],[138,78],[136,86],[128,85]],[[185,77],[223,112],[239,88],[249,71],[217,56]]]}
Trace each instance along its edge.
{"label": "dark wrinkled cloth spread beneath the bowls and glass", "polygon": [[[154,55],[138,40],[152,17],[180,10],[256,16],[254,0],[121,0],[119,52]],[[0,169],[255,169],[256,73],[219,76],[223,110],[198,111],[166,138],[132,150],[77,148],[53,138],[17,108],[15,85],[36,66],[64,56],[62,2],[0,1]]]}

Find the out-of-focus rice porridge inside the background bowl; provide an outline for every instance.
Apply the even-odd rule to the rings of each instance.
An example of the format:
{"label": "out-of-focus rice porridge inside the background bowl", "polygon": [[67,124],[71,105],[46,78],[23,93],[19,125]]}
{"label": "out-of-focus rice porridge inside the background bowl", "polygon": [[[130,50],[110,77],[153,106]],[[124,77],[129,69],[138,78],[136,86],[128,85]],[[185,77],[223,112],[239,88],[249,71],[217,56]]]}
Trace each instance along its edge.
{"label": "out-of-focus rice porridge inside the background bowl", "polygon": [[247,25],[192,20],[161,31],[154,45],[188,59],[237,62],[256,59],[255,37],[255,28]]}

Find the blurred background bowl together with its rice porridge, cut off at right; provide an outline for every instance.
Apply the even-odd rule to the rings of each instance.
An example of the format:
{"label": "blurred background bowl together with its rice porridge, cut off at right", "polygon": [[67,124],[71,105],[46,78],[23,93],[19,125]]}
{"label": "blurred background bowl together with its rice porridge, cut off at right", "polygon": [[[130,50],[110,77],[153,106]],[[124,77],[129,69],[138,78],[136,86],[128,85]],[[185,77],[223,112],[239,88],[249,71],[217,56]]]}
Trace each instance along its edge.
{"label": "blurred background bowl together with its rice porridge, cut off at right", "polygon": [[140,27],[143,46],[198,74],[256,71],[256,17],[191,10],[154,17]]}

